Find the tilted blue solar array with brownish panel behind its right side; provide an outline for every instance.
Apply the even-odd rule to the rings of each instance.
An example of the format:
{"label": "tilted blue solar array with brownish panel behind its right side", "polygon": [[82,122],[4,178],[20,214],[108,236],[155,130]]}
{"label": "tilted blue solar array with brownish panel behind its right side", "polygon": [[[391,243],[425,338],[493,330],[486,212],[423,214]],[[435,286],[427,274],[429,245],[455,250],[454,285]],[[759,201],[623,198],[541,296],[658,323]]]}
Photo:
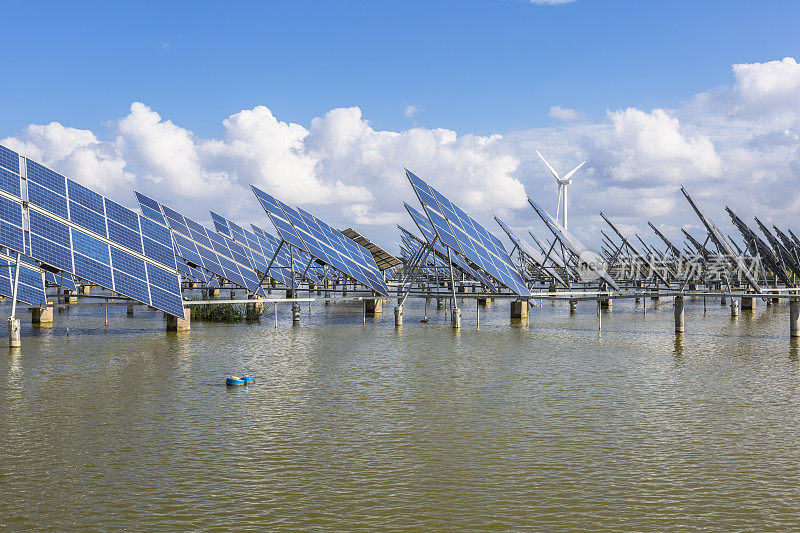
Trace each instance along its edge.
{"label": "tilted blue solar array with brownish panel behind its right side", "polygon": [[[251,186],[252,187],[252,186]],[[252,187],[281,239],[384,296],[389,288],[369,250],[300,208]]]}

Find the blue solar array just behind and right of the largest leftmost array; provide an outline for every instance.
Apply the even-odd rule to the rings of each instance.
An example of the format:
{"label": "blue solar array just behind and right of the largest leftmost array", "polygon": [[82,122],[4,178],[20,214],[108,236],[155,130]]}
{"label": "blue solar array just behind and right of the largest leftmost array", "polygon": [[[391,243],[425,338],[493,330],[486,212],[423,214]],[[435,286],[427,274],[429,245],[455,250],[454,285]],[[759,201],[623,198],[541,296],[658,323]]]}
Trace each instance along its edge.
{"label": "blue solar array just behind and right of the largest leftmost array", "polygon": [[234,285],[244,287],[259,296],[266,296],[259,285],[255,265],[244,246],[152,198],[139,192],[135,194],[146,217],[155,220],[154,223],[159,226],[162,221],[166,223],[166,226],[161,227],[168,227],[168,232],[171,230],[177,254],[189,267],[202,267]]}

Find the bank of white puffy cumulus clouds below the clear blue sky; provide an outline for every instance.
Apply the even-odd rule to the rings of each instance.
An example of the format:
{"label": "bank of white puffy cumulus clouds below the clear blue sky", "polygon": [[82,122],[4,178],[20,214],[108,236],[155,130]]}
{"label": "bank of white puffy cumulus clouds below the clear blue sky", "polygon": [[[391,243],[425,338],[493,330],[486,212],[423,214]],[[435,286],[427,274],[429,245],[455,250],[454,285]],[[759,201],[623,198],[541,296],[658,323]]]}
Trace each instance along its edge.
{"label": "bank of white puffy cumulus clouds below the clear blue sky", "polygon": [[720,225],[727,222],[723,204],[744,217],[794,224],[800,66],[786,58],[732,69],[730,86],[698,93],[676,109],[615,110],[590,124],[554,106],[551,116],[565,124],[504,135],[379,130],[358,107],[332,109],[306,127],[258,106],[221,117],[221,135],[204,139],[134,103],[105,139],[51,123],[30,125],[2,143],[129,205],[136,188],[206,223],[211,207],[268,227],[254,184],[334,226],[368,226],[365,233],[384,245],[397,241],[395,224],[413,228],[402,209],[403,200],[416,203],[404,167],[490,229],[497,212],[542,234],[525,198],[555,211],[556,185],[535,150],[562,172],[587,161],[569,198],[570,228],[589,244],[597,242],[601,210],[630,231],[650,235],[652,219],[679,237],[680,227],[695,223],[680,184]]}

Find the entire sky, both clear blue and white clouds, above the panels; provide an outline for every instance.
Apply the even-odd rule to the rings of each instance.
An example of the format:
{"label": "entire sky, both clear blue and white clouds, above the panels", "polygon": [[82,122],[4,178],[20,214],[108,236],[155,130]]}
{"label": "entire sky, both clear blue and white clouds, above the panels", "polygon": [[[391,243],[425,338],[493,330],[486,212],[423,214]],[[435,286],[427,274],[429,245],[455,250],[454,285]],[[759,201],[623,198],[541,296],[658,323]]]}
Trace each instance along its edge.
{"label": "entire sky, both clear blue and white clouds, above the panels", "polygon": [[[3,7],[0,139],[135,205],[265,223],[249,185],[397,242],[407,167],[524,233],[702,231],[800,209],[800,3],[524,0]],[[730,229],[730,228],[727,228]],[[537,231],[540,231],[541,227]],[[652,236],[651,236],[652,238]]]}

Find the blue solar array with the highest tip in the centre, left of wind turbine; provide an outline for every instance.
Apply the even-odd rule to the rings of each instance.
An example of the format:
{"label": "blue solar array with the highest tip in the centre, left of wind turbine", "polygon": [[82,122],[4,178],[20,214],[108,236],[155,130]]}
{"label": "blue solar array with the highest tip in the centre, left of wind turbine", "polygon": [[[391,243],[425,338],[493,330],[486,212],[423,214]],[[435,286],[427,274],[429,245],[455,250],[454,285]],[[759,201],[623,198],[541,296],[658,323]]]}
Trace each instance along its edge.
{"label": "blue solar array with the highest tip in the centre, left of wind turbine", "polygon": [[531,295],[500,239],[412,172],[406,170],[406,176],[443,244],[475,263],[512,292],[520,296]]}

